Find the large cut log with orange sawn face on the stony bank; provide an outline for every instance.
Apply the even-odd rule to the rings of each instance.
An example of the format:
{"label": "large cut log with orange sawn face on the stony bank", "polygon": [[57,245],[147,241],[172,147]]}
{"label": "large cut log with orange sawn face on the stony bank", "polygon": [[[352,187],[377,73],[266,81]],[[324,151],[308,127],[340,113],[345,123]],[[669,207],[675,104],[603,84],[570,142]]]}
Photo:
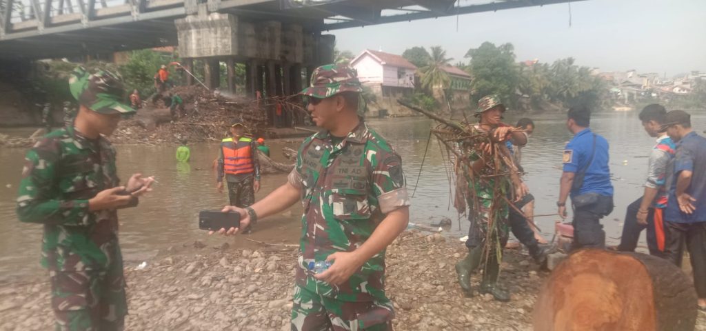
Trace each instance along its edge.
{"label": "large cut log with orange sawn face on the stony bank", "polygon": [[534,330],[694,330],[693,282],[678,267],[642,253],[586,249],[542,285]]}

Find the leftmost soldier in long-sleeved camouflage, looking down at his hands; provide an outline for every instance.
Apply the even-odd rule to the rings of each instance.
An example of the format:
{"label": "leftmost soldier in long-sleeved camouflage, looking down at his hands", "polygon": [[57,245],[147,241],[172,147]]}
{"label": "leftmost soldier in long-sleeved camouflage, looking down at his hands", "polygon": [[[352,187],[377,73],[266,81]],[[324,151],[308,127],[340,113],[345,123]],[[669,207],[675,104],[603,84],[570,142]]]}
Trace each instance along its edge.
{"label": "leftmost soldier in long-sleeved camouflage, looking down at his hands", "polygon": [[127,313],[116,209],[137,205],[151,178],[119,186],[115,150],[102,135],[121,114],[119,78],[78,67],[69,79],[80,104],[75,126],[47,134],[27,152],[17,214],[44,224],[42,265],[49,269],[56,330],[122,330]]}

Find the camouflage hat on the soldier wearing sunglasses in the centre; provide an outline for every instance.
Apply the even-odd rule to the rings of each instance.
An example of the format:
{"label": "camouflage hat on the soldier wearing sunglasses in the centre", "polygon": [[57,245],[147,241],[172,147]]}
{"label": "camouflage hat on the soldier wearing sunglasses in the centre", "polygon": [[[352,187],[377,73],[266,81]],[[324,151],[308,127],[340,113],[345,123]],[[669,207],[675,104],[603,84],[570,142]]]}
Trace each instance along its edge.
{"label": "camouflage hat on the soldier wearing sunglasses in the centre", "polygon": [[358,72],[346,64],[327,64],[316,68],[311,75],[311,85],[299,94],[324,99],[340,92],[363,92]]}

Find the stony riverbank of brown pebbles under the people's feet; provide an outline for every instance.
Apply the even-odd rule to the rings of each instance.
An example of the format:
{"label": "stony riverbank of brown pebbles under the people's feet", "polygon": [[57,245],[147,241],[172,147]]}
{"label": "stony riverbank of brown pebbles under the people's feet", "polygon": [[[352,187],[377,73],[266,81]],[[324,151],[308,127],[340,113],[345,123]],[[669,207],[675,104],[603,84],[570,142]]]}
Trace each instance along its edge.
{"label": "stony riverbank of brown pebbles under the people's feet", "polygon": [[[466,298],[454,271],[464,253],[456,239],[418,231],[406,231],[390,246],[387,290],[395,330],[532,330],[532,307],[548,274],[524,252],[506,250],[502,279],[512,301]],[[196,242],[170,248],[140,270],[128,263],[126,330],[289,330],[296,257],[291,245],[242,249]],[[472,280],[477,286],[479,275]],[[0,284],[0,330],[50,330],[52,317],[45,277]],[[706,330],[704,313],[697,330]]]}

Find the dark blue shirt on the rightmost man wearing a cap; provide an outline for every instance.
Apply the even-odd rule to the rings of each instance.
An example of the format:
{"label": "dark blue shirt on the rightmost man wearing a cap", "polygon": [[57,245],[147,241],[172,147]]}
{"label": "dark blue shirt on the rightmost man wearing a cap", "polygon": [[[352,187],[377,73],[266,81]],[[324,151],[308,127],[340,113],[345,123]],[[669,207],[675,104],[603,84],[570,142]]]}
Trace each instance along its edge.
{"label": "dark blue shirt on the rightmost man wearing a cap", "polygon": [[[693,214],[679,210],[676,201],[676,181],[681,171],[691,171],[691,183],[686,193],[695,198]],[[691,131],[676,143],[674,156],[674,178],[669,189],[669,202],[666,204],[664,219],[675,223],[706,222],[706,138]]]}

